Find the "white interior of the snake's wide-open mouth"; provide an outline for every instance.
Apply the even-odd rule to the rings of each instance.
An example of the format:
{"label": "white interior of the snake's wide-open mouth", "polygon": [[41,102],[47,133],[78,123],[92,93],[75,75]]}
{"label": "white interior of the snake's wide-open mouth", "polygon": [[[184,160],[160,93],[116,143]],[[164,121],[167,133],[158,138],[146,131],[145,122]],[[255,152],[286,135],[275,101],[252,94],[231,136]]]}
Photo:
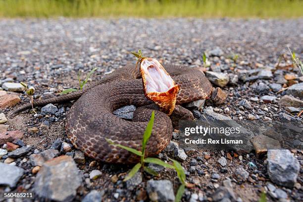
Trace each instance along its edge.
{"label": "white interior of the snake's wide-open mouth", "polygon": [[165,69],[158,60],[153,58],[144,59],[141,62],[141,69],[146,79],[146,89],[151,92],[166,92],[174,87],[174,81],[166,74]]}

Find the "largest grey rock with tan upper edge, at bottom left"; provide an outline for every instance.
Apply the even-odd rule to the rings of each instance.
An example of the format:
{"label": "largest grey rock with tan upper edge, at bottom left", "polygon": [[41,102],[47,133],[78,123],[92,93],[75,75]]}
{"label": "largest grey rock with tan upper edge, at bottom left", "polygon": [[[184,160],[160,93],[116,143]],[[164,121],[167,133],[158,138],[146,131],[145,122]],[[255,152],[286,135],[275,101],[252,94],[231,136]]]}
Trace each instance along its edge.
{"label": "largest grey rock with tan upper edge, at bottom left", "polygon": [[71,202],[82,177],[71,156],[62,155],[43,164],[34,184],[34,192],[49,201]]}

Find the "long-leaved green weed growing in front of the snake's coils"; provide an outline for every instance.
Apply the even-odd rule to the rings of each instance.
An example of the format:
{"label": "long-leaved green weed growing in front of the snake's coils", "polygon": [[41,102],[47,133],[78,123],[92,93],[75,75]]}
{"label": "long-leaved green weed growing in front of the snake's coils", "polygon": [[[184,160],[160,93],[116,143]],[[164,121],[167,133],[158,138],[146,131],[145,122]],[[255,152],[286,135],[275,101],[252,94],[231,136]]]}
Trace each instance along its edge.
{"label": "long-leaved green weed growing in front of the snake's coils", "polygon": [[143,134],[143,140],[142,140],[142,148],[141,151],[135,150],[133,148],[129,148],[120,144],[115,144],[114,142],[112,142],[109,139],[106,139],[106,141],[111,144],[114,145],[116,147],[122,148],[124,150],[127,150],[128,152],[132,152],[138,156],[140,156],[140,162],[137,163],[127,174],[127,176],[124,178],[123,181],[127,181],[129,179],[131,179],[140,169],[143,169],[145,172],[154,175],[154,176],[158,176],[158,173],[154,170],[152,170],[150,167],[145,166],[145,163],[154,163],[157,165],[161,165],[163,167],[167,167],[167,168],[171,168],[176,170],[177,172],[177,176],[179,178],[179,181],[181,182],[181,185],[177,191],[177,195],[175,198],[175,202],[180,202],[182,199],[182,195],[184,194],[185,191],[185,187],[189,187],[189,184],[186,182],[186,175],[185,175],[185,171],[182,167],[182,165],[174,160],[174,159],[170,159],[173,162],[173,165],[170,165],[168,163],[165,163],[164,161],[158,159],[158,158],[153,158],[153,157],[145,157],[145,151],[146,151],[146,146],[147,143],[152,135],[152,126],[153,126],[153,122],[154,122],[154,111],[152,111],[152,116],[151,119],[145,129],[145,132]]}

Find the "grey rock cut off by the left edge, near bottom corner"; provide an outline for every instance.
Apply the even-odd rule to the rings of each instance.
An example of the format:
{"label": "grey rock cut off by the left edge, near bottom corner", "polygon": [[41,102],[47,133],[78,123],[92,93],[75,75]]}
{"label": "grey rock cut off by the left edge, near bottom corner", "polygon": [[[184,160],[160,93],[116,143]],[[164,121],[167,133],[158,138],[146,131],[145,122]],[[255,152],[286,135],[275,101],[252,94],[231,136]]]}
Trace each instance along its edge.
{"label": "grey rock cut off by the left edge, near bottom corner", "polygon": [[0,163],[0,185],[16,187],[22,177],[24,170],[14,165]]}

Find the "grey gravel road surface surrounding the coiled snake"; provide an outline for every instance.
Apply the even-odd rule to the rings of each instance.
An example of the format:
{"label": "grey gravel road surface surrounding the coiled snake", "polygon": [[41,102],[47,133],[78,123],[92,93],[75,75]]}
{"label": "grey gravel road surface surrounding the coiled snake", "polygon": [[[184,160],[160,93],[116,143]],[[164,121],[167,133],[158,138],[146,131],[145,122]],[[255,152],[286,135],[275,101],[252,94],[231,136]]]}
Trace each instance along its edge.
{"label": "grey gravel road surface surrounding the coiled snake", "polygon": [[[144,55],[163,63],[209,71],[206,76],[227,98],[220,105],[203,102],[201,110],[195,103],[197,108],[191,110],[197,119],[211,113],[234,120],[302,121],[298,114],[303,110],[303,76],[291,65],[287,46],[303,58],[303,19],[1,19],[0,123],[4,124],[0,134],[13,131],[8,134],[13,138],[0,136],[0,169],[4,170],[0,193],[33,191],[36,200],[129,202],[154,200],[154,193],[161,196],[166,190],[163,200],[171,201],[179,186],[174,171],[159,167],[153,167],[160,169],[159,177],[139,173],[124,183],[130,166],[96,162],[71,147],[64,121],[72,102],[37,108],[35,116],[26,111],[9,119],[8,114],[29,99],[22,92],[11,93],[6,82],[33,86],[35,100],[51,98],[63,89],[77,88],[79,70],[84,78],[99,67],[92,76],[95,81],[128,61],[135,62],[129,52],[142,49]],[[204,51],[210,64],[206,68]],[[277,67],[282,54],[285,60]],[[4,106],[4,101],[13,106]],[[179,151],[178,138],[173,141],[171,150]],[[298,141],[302,145],[302,136]],[[199,150],[166,151],[159,158],[184,158],[182,165],[194,188],[185,191],[183,201],[255,202],[264,191],[268,201],[290,202],[303,199],[302,154],[301,150],[262,156]],[[281,161],[276,161],[277,156]],[[273,167],[278,164],[286,164],[289,175],[277,173]],[[54,183],[57,180],[60,185]]]}

